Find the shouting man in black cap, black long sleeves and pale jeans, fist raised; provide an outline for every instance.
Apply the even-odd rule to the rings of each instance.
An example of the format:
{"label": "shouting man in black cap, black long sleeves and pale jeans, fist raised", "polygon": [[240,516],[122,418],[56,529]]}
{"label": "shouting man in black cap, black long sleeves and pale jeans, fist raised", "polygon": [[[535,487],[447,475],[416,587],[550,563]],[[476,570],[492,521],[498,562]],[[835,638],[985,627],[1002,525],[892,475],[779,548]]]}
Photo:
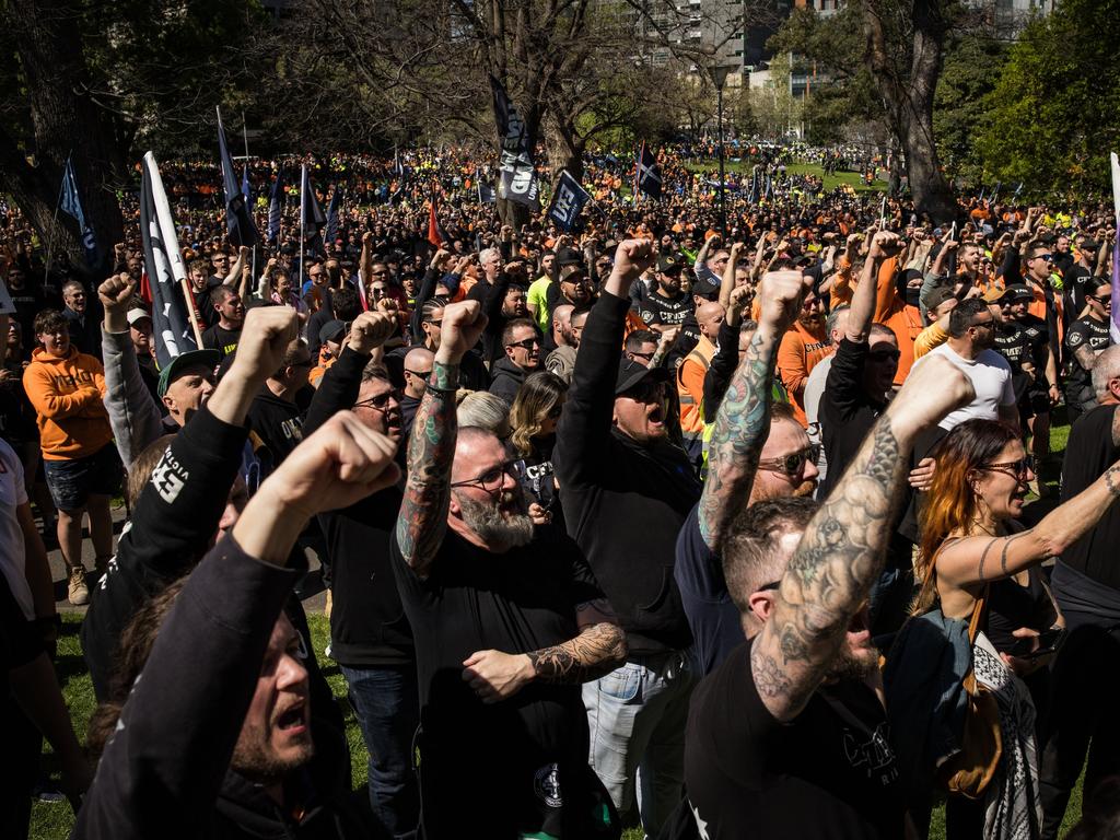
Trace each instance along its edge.
{"label": "shouting man in black cap, black long sleeves and pale jeans, fist raised", "polygon": [[[694,678],[691,634],[673,580],[674,545],[700,497],[688,456],[669,439],[668,372],[618,354],[627,290],[655,259],[648,240],[618,245],[580,338],[552,458],[568,531],[629,641],[626,664],[584,687],[591,766],[619,811],[633,805],[642,768],[638,808],[650,837],[678,804],[683,778]],[[663,256],[660,268],[679,263]]]}

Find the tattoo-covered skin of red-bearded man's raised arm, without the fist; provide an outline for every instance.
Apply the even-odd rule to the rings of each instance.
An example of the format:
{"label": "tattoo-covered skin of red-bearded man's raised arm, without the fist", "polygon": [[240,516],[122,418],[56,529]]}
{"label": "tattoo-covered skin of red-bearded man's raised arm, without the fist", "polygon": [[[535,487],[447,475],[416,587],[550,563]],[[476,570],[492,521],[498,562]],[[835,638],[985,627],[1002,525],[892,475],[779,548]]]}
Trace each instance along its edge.
{"label": "tattoo-covered skin of red-bearded man's raised arm, without the fist", "polygon": [[700,535],[719,550],[727,521],[746,505],[769,435],[771,383],[777,340],[755,330],[716,414],[708,445],[708,479],[700,496]]}

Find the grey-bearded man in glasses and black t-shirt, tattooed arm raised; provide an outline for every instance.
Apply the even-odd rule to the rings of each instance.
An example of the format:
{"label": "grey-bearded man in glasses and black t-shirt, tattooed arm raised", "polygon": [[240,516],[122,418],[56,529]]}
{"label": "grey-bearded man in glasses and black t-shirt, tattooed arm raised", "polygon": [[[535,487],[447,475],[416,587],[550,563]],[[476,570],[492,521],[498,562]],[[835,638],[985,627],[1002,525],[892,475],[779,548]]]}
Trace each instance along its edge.
{"label": "grey-bearded man in glasses and black t-shirt, tattooed arm raised", "polygon": [[422,830],[617,837],[579,685],[625,659],[625,636],[576,543],[529,519],[505,446],[456,428],[459,362],[485,328],[476,301],[444,310],[391,545],[419,672]]}

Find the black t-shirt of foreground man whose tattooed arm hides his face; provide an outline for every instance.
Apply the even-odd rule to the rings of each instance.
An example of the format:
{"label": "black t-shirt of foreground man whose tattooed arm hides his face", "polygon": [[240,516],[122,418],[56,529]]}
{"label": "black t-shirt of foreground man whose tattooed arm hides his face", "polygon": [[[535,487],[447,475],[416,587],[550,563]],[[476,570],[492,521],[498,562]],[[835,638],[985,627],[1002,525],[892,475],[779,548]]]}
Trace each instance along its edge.
{"label": "black t-shirt of foreground man whose tattooed arm hides his face", "polygon": [[684,782],[701,837],[902,838],[898,766],[875,692],[855,681],[822,687],[782,725],[758,696],[750,645],[692,694]]}

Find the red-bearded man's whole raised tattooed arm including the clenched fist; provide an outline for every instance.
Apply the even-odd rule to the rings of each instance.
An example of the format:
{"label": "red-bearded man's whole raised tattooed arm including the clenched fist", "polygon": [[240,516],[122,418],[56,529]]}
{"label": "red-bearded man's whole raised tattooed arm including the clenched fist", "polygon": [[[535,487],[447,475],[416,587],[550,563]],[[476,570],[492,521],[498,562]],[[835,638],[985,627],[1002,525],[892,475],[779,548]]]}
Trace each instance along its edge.
{"label": "red-bearded man's whole raised tattooed arm including the clenched fist", "polygon": [[746,507],[769,435],[771,384],[782,334],[796,316],[811,279],[800,271],[772,271],[759,286],[762,320],[716,414],[708,446],[708,479],[700,496],[704,544],[719,551],[727,522]]}

